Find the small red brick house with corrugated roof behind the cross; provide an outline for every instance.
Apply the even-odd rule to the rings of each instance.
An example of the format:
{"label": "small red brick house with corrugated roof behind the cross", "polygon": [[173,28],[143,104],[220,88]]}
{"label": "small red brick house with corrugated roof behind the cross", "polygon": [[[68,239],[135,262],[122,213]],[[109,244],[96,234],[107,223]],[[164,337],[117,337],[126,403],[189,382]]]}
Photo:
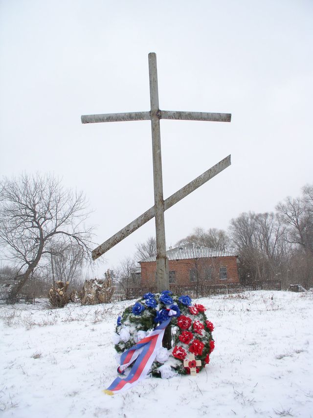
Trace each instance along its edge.
{"label": "small red brick house with corrugated roof behind the cross", "polygon": [[[237,255],[196,244],[180,245],[166,251],[169,283],[221,285],[239,283]],[[156,256],[139,261],[141,286],[156,284]]]}

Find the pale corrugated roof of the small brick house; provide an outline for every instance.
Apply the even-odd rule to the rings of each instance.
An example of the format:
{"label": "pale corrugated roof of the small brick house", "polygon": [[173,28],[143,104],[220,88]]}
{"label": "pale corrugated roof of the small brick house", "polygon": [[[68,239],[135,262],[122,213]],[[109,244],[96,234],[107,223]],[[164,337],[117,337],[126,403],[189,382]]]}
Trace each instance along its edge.
{"label": "pale corrugated roof of the small brick house", "polygon": [[[236,257],[236,254],[231,254],[226,251],[218,251],[213,248],[202,247],[201,245],[196,244],[185,244],[176,248],[171,248],[166,251],[166,255],[169,260],[186,260],[207,257]],[[138,263],[149,263],[151,261],[156,261],[156,256],[148,257]]]}

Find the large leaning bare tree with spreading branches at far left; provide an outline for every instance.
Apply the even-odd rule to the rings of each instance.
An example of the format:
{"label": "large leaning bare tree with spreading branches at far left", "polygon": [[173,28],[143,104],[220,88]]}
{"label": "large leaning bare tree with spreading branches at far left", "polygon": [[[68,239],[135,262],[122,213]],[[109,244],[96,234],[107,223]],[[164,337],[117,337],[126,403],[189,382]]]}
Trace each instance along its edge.
{"label": "large leaning bare tree with spreading branches at far left", "polygon": [[34,270],[60,247],[77,245],[89,258],[92,228],[82,193],[65,190],[53,176],[3,178],[0,182],[0,243],[19,269],[16,295]]}

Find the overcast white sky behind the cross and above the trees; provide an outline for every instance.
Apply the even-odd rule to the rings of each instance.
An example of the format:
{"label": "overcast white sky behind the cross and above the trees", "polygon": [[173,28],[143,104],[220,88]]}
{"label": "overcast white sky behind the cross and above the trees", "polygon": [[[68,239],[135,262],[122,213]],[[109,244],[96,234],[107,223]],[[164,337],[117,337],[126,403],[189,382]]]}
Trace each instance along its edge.
{"label": "overcast white sky behind the cross and above the trees", "polygon": [[[82,125],[82,114],[232,113],[161,120],[164,198],[231,154],[232,165],[165,213],[166,243],[274,210],[313,181],[313,2],[0,0],[0,172],[52,172],[83,190],[97,242],[153,205],[149,121]],[[103,270],[155,234],[117,244]]]}

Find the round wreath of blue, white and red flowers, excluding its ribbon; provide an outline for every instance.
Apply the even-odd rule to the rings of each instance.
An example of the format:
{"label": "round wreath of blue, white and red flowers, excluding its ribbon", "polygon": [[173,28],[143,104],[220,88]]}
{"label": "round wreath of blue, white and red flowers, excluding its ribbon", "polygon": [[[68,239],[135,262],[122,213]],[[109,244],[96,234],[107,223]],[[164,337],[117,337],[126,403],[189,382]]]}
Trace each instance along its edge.
{"label": "round wreath of blue, white and red flowers, excluding its ribbon", "polygon": [[201,361],[201,365],[198,361],[199,366],[196,367],[199,373],[209,363],[210,353],[214,350],[214,326],[207,320],[205,310],[203,305],[193,305],[187,295],[176,296],[169,290],[156,294],[146,293],[117,318],[115,350],[121,354],[133,347],[166,321],[171,311],[172,348],[167,350],[161,347],[158,350],[150,374],[162,378],[190,374],[190,368],[184,366],[189,353],[195,355],[195,360]]}

